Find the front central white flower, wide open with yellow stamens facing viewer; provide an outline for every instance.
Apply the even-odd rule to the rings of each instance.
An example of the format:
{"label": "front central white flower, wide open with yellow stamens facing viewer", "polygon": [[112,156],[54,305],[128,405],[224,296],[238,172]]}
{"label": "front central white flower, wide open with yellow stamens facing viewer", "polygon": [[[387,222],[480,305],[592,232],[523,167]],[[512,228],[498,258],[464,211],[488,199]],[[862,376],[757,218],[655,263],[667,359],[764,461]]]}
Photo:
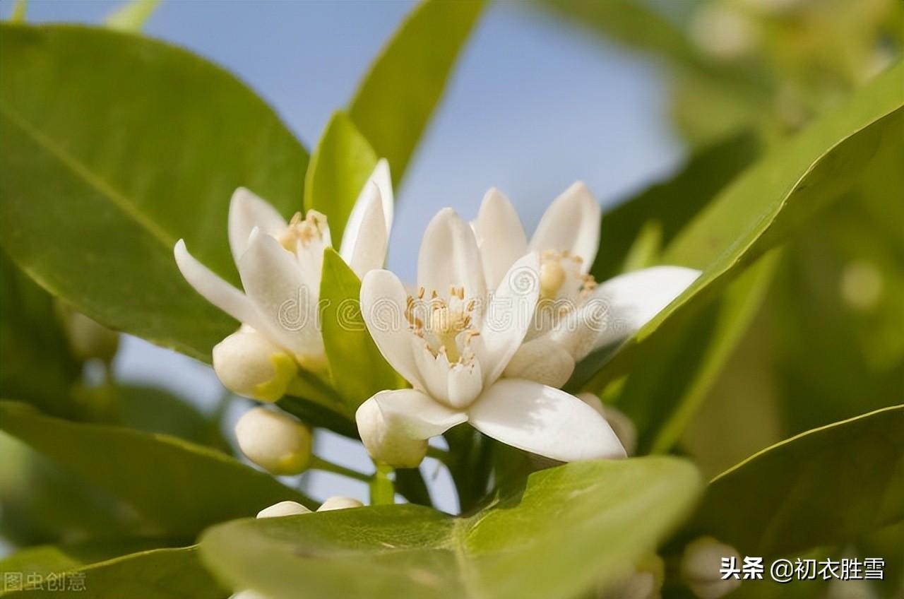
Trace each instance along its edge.
{"label": "front central white flower, wide open with yellow stamens facing viewer", "polygon": [[358,409],[358,431],[375,460],[417,466],[430,437],[465,422],[555,460],[624,457],[606,421],[578,398],[524,379],[500,379],[530,327],[539,266],[533,252],[515,260],[487,294],[474,232],[444,209],[424,233],[417,298],[390,271],[364,277],[367,328],[414,387],[382,391]]}

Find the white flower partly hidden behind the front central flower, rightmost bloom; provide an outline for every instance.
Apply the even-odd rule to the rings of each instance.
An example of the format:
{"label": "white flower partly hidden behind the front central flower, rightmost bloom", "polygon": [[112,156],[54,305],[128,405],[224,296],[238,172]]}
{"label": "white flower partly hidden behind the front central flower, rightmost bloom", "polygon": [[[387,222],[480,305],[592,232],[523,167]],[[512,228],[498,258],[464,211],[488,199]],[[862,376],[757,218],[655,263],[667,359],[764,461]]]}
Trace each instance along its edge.
{"label": "white flower partly hidden behind the front central flower, rightmost bloom", "polygon": [[599,245],[599,205],[575,183],[543,214],[530,242],[508,198],[488,191],[472,223],[486,281],[493,285],[524,252],[540,252],[540,300],[523,346],[505,376],[560,387],[591,351],[620,341],[652,319],[700,276],[656,266],[598,284],[589,274]]}

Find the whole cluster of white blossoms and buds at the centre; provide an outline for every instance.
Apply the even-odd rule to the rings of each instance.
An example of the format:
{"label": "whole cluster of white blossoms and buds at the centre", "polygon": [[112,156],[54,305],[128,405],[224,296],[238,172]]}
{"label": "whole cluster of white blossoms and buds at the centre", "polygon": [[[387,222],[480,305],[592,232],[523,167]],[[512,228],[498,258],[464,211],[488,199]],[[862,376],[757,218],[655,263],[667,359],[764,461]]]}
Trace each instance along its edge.
{"label": "whole cluster of white blossoms and buds at the centre", "polygon": [[[416,467],[431,437],[462,423],[555,461],[625,456],[630,423],[604,411],[596,396],[561,387],[579,360],[643,326],[699,272],[660,266],[598,283],[589,271],[600,209],[581,183],[552,202],[530,240],[496,189],[471,223],[444,208],[423,235],[413,286],[382,270],[391,217],[389,168],[381,161],[340,250],[362,278],[368,332],[410,384],[373,395],[355,414],[374,461]],[[229,220],[244,293],[194,260],[184,242],[176,244],[176,261],[196,290],[242,323],[213,349],[223,384],[275,401],[291,390],[299,369],[328,373],[317,296],[329,227],[313,210],[287,223],[245,189],[233,195]],[[303,470],[309,431],[258,410],[238,427],[243,451],[275,473]]]}

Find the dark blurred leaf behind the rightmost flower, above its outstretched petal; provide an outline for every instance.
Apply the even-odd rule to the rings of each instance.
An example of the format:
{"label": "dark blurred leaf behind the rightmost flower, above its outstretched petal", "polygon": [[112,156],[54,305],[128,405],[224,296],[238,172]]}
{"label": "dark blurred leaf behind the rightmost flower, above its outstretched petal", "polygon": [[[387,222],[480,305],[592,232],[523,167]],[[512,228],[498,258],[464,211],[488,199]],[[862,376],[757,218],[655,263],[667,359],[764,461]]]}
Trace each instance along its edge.
{"label": "dark blurred leaf behind the rightmost flower, above its outstretched petal", "polygon": [[745,132],[692,155],[673,176],[651,185],[603,214],[599,251],[590,272],[597,280],[620,274],[628,253],[648,223],[658,225],[668,245],[694,216],[757,156],[755,135]]}

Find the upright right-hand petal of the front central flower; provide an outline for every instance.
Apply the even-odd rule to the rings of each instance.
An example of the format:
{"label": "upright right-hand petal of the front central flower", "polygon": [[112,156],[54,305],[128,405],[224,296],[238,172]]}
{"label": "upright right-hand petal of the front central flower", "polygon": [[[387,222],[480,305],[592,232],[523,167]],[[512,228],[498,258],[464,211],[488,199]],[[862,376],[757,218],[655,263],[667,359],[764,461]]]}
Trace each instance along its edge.
{"label": "upright right-hand petal of the front central flower", "polygon": [[475,352],[484,371],[485,385],[503,374],[505,366],[530,328],[540,296],[540,261],[531,252],[505,273],[489,300]]}

